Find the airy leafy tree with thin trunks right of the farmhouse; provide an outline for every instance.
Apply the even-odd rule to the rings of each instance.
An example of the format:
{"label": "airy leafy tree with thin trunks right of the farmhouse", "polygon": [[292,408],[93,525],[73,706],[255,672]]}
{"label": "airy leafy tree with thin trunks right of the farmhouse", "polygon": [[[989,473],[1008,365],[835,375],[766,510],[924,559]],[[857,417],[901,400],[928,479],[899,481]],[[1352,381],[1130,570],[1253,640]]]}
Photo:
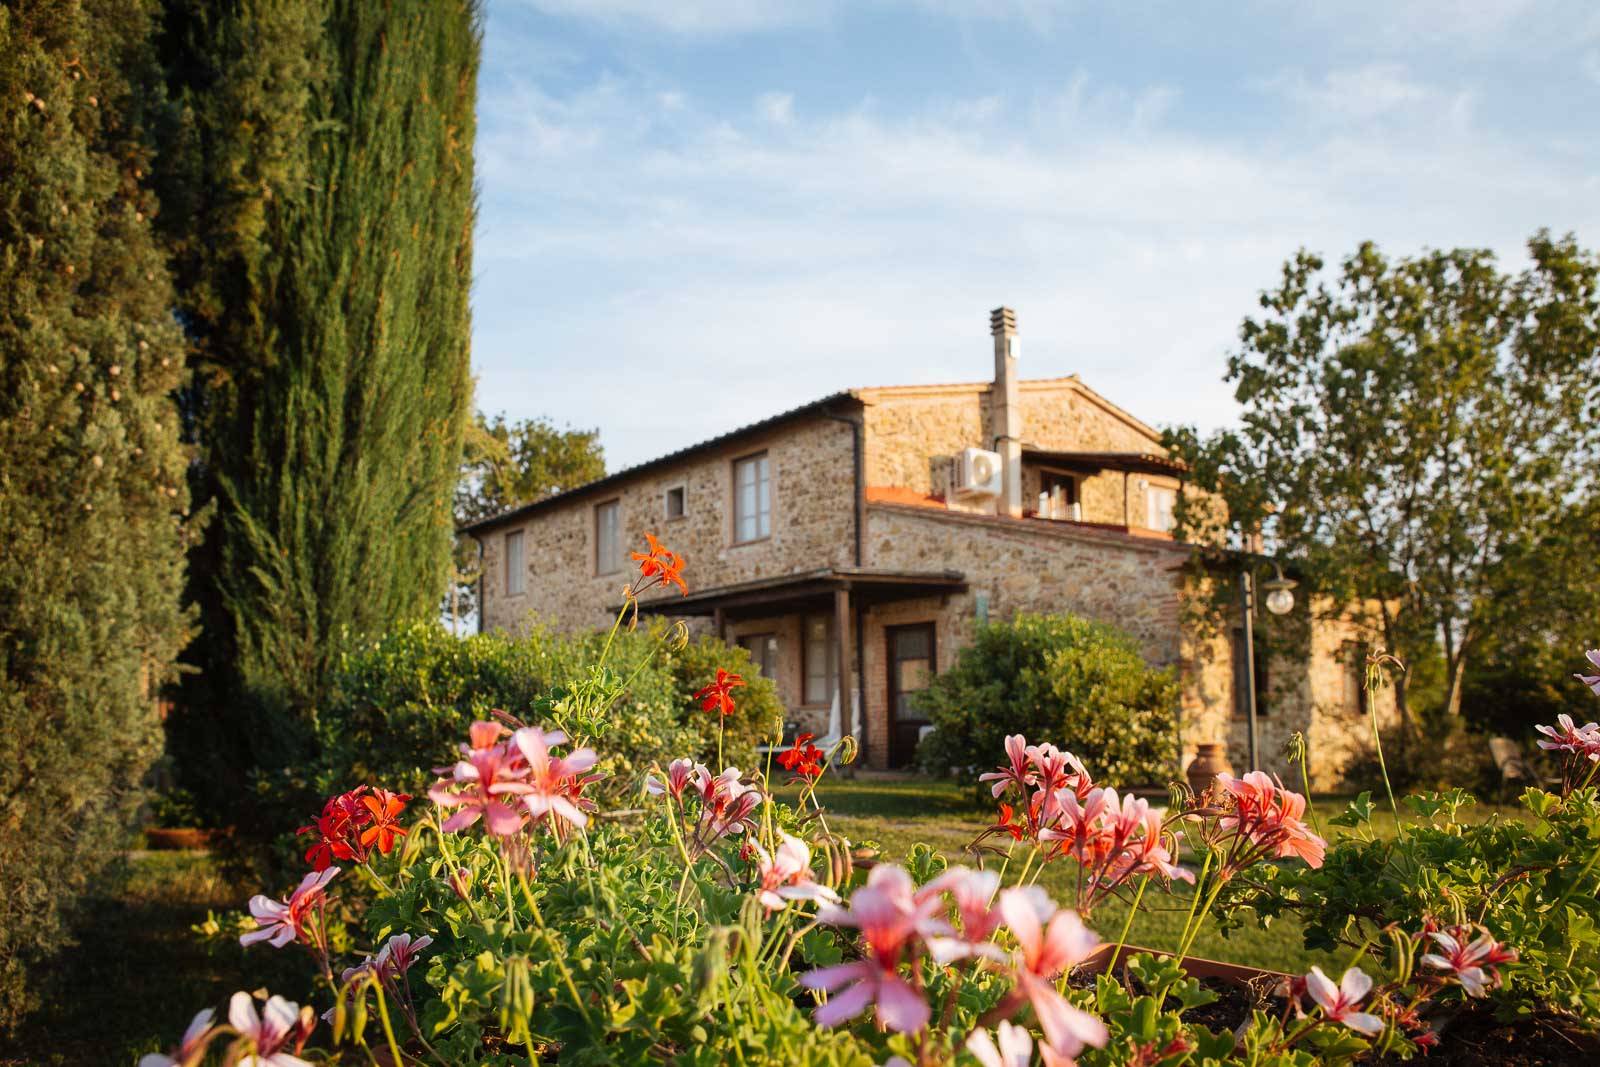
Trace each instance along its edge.
{"label": "airy leafy tree with thin trunks right of the farmhouse", "polygon": [[1450,713],[1488,635],[1539,619],[1594,488],[1600,262],[1542,232],[1528,253],[1506,274],[1488,251],[1363,245],[1333,278],[1298,254],[1229,358],[1242,426],[1170,440],[1227,504],[1181,509],[1186,536],[1264,537],[1390,651],[1437,646]]}

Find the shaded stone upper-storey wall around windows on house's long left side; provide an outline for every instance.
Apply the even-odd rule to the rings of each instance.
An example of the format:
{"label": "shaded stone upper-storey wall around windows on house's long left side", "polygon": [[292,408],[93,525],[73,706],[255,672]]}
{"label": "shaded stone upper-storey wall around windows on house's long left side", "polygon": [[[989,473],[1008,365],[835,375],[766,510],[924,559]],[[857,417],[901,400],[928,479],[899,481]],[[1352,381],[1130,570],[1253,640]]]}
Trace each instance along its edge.
{"label": "shaded stone upper-storey wall around windows on house's long left side", "polygon": [[[622,541],[643,549],[656,534],[685,557],[690,589],[710,589],[824,566],[854,563],[853,430],[832,419],[803,419],[760,437],[685,458],[621,485],[582,491],[517,523],[496,526],[483,544],[483,629],[522,630],[533,617],[558,629],[610,625],[634,571],[595,573],[595,507],[621,501]],[[733,541],[733,461],[766,451],[773,486],[771,537]],[[685,515],[669,520],[664,496],[685,488]],[[506,534],[523,531],[526,581],[506,593]]]}

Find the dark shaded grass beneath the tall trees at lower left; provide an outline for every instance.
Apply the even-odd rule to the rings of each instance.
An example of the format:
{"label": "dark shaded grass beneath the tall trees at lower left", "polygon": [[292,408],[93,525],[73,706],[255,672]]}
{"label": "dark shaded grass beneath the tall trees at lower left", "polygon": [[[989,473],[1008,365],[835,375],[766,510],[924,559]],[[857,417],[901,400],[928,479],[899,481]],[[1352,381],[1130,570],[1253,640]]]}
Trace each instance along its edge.
{"label": "dark shaded grass beneath the tall trees at lower left", "polygon": [[125,877],[88,901],[77,945],[29,976],[40,1005],[0,1064],[133,1067],[176,1045],[202,1008],[224,1014],[235,990],[302,998],[312,976],[302,952],[206,944],[190,929],[208,909],[242,910],[251,893],[205,853],[133,854]]}

